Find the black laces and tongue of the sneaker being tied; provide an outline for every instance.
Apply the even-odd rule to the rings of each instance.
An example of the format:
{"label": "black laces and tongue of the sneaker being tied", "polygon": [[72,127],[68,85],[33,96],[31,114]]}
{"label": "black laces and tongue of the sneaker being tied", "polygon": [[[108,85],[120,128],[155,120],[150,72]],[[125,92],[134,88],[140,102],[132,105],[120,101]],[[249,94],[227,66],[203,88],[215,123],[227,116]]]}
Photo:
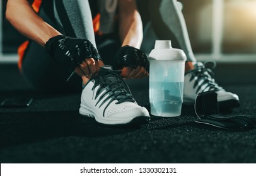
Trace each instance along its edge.
{"label": "black laces and tongue of the sneaker being tied", "polygon": [[[127,101],[135,102],[131,95],[131,91],[128,85],[124,82],[124,80],[122,80],[119,74],[120,71],[101,68],[99,74],[93,77],[95,85],[93,85],[91,90],[93,91],[98,85],[100,85],[100,87],[96,91],[95,99],[103,91],[105,91],[98,100],[98,102],[100,102],[103,99],[103,97],[105,97],[104,101],[102,102],[102,104],[100,104],[99,107],[101,107],[103,104],[105,104],[105,102],[110,100],[108,101],[108,104],[105,106],[103,116],[105,114],[105,110],[107,109],[107,107],[114,100],[117,100],[115,104],[120,104],[121,102]],[[95,106],[98,104],[98,102],[96,102]]]}

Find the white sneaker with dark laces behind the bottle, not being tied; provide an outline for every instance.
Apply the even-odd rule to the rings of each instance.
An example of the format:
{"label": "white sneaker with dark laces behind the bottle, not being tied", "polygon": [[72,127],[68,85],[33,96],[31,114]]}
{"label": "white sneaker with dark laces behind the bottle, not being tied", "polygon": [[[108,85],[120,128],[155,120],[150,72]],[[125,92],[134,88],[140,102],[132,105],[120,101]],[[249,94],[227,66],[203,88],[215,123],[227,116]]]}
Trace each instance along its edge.
{"label": "white sneaker with dark laces behind the bottle, not being tied", "polygon": [[[206,63],[197,62],[193,70],[190,70],[184,77],[184,104],[195,102],[197,94],[206,91],[216,91],[220,109],[228,109],[240,106],[236,94],[226,92],[212,78],[212,70],[205,67]],[[215,65],[214,65],[215,66]]]}

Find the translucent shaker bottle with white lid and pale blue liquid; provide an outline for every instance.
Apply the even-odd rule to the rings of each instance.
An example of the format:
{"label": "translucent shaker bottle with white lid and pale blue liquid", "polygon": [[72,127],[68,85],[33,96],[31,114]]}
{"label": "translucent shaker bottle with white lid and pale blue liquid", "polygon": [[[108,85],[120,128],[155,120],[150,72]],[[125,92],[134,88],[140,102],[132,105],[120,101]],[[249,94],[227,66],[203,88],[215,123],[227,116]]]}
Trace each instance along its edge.
{"label": "translucent shaker bottle with white lid and pale blue liquid", "polygon": [[170,40],[156,40],[149,53],[149,102],[151,114],[180,116],[183,102],[185,60],[183,50]]}

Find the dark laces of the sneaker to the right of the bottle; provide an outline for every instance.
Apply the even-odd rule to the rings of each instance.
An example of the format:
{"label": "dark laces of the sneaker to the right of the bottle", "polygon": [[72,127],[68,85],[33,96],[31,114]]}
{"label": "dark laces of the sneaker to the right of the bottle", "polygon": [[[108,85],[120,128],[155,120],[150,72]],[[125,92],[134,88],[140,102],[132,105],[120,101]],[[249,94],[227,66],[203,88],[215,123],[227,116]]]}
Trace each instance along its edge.
{"label": "dark laces of the sneaker to the right of the bottle", "polygon": [[[209,88],[208,91],[219,91],[219,90],[221,90],[222,87],[219,87],[219,85],[212,78],[212,76],[214,75],[212,70],[209,69],[209,68],[206,68],[205,65],[206,65],[206,63],[204,63],[204,65],[199,65],[197,68],[195,68],[195,69],[193,69],[189,72],[192,75],[190,77],[189,81],[191,81],[195,77],[197,77],[197,79],[195,80],[195,83],[193,85],[194,89],[198,85],[196,93],[198,93],[199,90],[203,86],[205,86],[205,87],[204,87],[204,89],[202,89],[202,92],[206,91],[207,88]],[[215,63],[214,63],[214,67],[215,67]]]}

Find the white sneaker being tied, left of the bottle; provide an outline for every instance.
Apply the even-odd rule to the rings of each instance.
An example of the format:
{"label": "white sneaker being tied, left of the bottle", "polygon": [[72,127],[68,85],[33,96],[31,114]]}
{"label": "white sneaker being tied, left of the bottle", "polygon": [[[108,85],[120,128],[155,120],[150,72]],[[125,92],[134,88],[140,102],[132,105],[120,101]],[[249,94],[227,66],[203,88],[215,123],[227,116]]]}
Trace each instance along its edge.
{"label": "white sneaker being tied, left of the bottle", "polygon": [[102,124],[143,124],[150,120],[148,110],[132,98],[119,71],[105,66],[83,87],[79,113]]}

